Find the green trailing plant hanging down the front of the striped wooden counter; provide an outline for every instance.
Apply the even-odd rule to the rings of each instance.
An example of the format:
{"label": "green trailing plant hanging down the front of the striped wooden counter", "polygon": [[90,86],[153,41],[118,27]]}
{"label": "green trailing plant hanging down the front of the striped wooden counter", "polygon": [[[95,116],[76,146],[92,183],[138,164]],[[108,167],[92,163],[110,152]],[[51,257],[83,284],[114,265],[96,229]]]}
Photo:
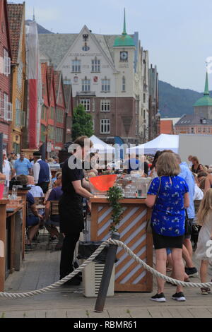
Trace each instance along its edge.
{"label": "green trailing plant hanging down the front of the striped wooden counter", "polygon": [[110,231],[112,233],[117,232],[120,221],[122,220],[122,215],[124,208],[122,204],[119,203],[120,199],[123,199],[122,189],[117,186],[114,186],[107,191],[107,200],[110,201],[110,206],[112,207],[112,224],[110,226]]}

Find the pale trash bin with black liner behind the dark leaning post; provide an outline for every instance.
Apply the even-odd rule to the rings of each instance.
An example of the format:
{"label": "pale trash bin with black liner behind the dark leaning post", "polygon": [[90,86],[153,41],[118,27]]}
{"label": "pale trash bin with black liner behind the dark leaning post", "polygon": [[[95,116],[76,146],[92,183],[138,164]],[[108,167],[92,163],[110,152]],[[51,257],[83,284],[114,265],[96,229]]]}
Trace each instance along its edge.
{"label": "pale trash bin with black liner behind the dark leaning post", "polygon": [[[102,242],[80,242],[78,246],[78,259],[84,263],[100,247]],[[98,297],[102,274],[105,269],[105,260],[109,246],[105,247],[93,262],[83,269],[83,288],[85,297]],[[107,297],[114,296],[114,271],[107,292]]]}

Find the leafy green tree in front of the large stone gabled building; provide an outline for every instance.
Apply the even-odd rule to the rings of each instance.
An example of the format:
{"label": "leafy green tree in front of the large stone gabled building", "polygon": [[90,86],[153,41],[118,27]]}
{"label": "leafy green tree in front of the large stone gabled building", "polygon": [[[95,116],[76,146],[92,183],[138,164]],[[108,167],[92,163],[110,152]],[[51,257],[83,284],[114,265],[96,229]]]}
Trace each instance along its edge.
{"label": "leafy green tree in front of the large stone gabled building", "polygon": [[73,126],[72,126],[72,138],[73,141],[80,136],[92,136],[93,131],[93,121],[91,115],[86,112],[83,105],[78,105],[73,110]]}

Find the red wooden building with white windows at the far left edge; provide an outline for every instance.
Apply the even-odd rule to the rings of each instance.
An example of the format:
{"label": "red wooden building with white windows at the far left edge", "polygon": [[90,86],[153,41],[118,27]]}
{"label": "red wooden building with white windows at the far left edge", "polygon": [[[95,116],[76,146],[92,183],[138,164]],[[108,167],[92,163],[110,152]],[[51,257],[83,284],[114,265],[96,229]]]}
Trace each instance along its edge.
{"label": "red wooden building with white windows at the far left edge", "polygon": [[0,0],[0,133],[6,152],[11,144],[11,42],[7,1]]}

